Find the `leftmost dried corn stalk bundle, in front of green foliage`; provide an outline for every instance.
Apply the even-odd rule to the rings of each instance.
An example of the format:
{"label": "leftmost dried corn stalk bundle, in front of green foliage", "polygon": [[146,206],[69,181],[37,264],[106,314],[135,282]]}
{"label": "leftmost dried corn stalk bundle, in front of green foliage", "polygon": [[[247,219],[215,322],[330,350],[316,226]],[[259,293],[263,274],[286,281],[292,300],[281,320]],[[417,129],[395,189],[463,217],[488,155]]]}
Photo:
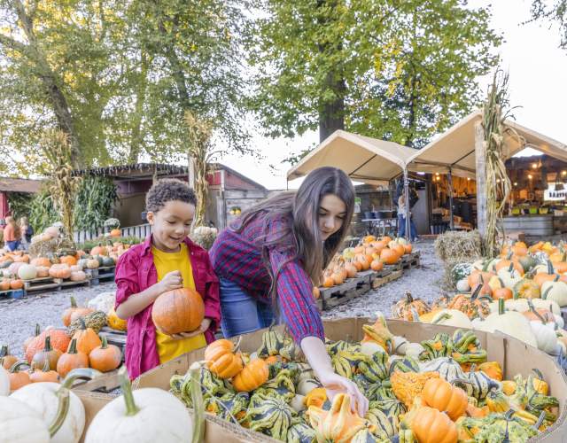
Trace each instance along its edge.
{"label": "leftmost dried corn stalk bundle, in front of green foliage", "polygon": [[47,172],[50,175],[48,186],[63,223],[64,236],[72,239],[74,197],[81,178],[73,176],[68,136],[59,129],[48,129],[43,134],[40,148],[47,159]]}

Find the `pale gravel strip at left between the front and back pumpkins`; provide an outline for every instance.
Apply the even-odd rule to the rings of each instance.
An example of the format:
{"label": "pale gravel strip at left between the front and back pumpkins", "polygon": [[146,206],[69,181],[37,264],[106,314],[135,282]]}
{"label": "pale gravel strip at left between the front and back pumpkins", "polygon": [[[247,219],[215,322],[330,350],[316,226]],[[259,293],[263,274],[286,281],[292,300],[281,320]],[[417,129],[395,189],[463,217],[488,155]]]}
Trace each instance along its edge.
{"label": "pale gravel strip at left between the front and back pumpkins", "polygon": [[112,283],[92,287],[69,288],[57,292],[43,292],[24,299],[0,298],[0,345],[8,345],[12,354],[23,355],[24,340],[34,333],[35,323],[42,330],[47,326],[63,327],[61,314],[69,306],[69,297],[74,296],[79,306],[94,299],[99,293],[114,291]]}

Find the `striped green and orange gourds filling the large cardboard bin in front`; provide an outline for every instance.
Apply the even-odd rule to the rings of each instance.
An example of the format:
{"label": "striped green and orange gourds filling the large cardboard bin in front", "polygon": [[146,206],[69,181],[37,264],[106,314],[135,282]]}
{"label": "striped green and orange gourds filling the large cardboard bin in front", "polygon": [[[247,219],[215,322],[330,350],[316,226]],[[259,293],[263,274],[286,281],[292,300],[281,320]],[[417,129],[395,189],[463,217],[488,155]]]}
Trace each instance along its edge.
{"label": "striped green and orange gourds filling the large cardboard bin in front", "polygon": [[409,343],[392,335],[383,316],[363,330],[360,343],[328,341],[327,351],[335,371],[368,398],[364,417],[352,412],[347,394],[330,401],[298,347],[275,330],[251,355],[215,341],[198,375],[173,376],[171,392],[193,408],[198,389],[208,413],[288,442],[503,441],[488,439],[485,429],[500,435],[506,425],[511,441],[522,442],[556,420],[558,401],[542,375],[502,380],[471,330]]}

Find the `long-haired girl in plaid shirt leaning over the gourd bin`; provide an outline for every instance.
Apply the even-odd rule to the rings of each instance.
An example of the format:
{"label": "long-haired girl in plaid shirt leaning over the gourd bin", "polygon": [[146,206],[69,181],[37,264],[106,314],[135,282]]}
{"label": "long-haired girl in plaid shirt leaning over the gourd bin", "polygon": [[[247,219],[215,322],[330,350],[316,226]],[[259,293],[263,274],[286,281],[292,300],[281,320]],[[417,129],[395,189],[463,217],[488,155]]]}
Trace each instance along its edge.
{"label": "long-haired girl in plaid shirt leaning over the gourd bin", "polygon": [[353,184],[343,171],[315,169],[297,193],[269,198],[242,214],[217,237],[210,256],[221,283],[225,337],[268,327],[280,312],[330,395],[350,393],[364,416],[368,400],[330,364],[313,297],[313,285],[346,236],[353,206]]}

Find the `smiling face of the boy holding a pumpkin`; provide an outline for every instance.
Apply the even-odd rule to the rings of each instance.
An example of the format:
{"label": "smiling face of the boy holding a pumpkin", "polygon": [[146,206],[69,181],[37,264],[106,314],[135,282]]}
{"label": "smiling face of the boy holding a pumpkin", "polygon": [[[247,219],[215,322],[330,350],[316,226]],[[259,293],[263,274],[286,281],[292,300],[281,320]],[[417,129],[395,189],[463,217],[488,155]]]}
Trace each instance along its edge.
{"label": "smiling face of the boy holding a pumpkin", "polygon": [[158,212],[147,214],[153,227],[153,243],[166,253],[179,251],[179,245],[189,235],[195,206],[179,200],[168,201]]}

